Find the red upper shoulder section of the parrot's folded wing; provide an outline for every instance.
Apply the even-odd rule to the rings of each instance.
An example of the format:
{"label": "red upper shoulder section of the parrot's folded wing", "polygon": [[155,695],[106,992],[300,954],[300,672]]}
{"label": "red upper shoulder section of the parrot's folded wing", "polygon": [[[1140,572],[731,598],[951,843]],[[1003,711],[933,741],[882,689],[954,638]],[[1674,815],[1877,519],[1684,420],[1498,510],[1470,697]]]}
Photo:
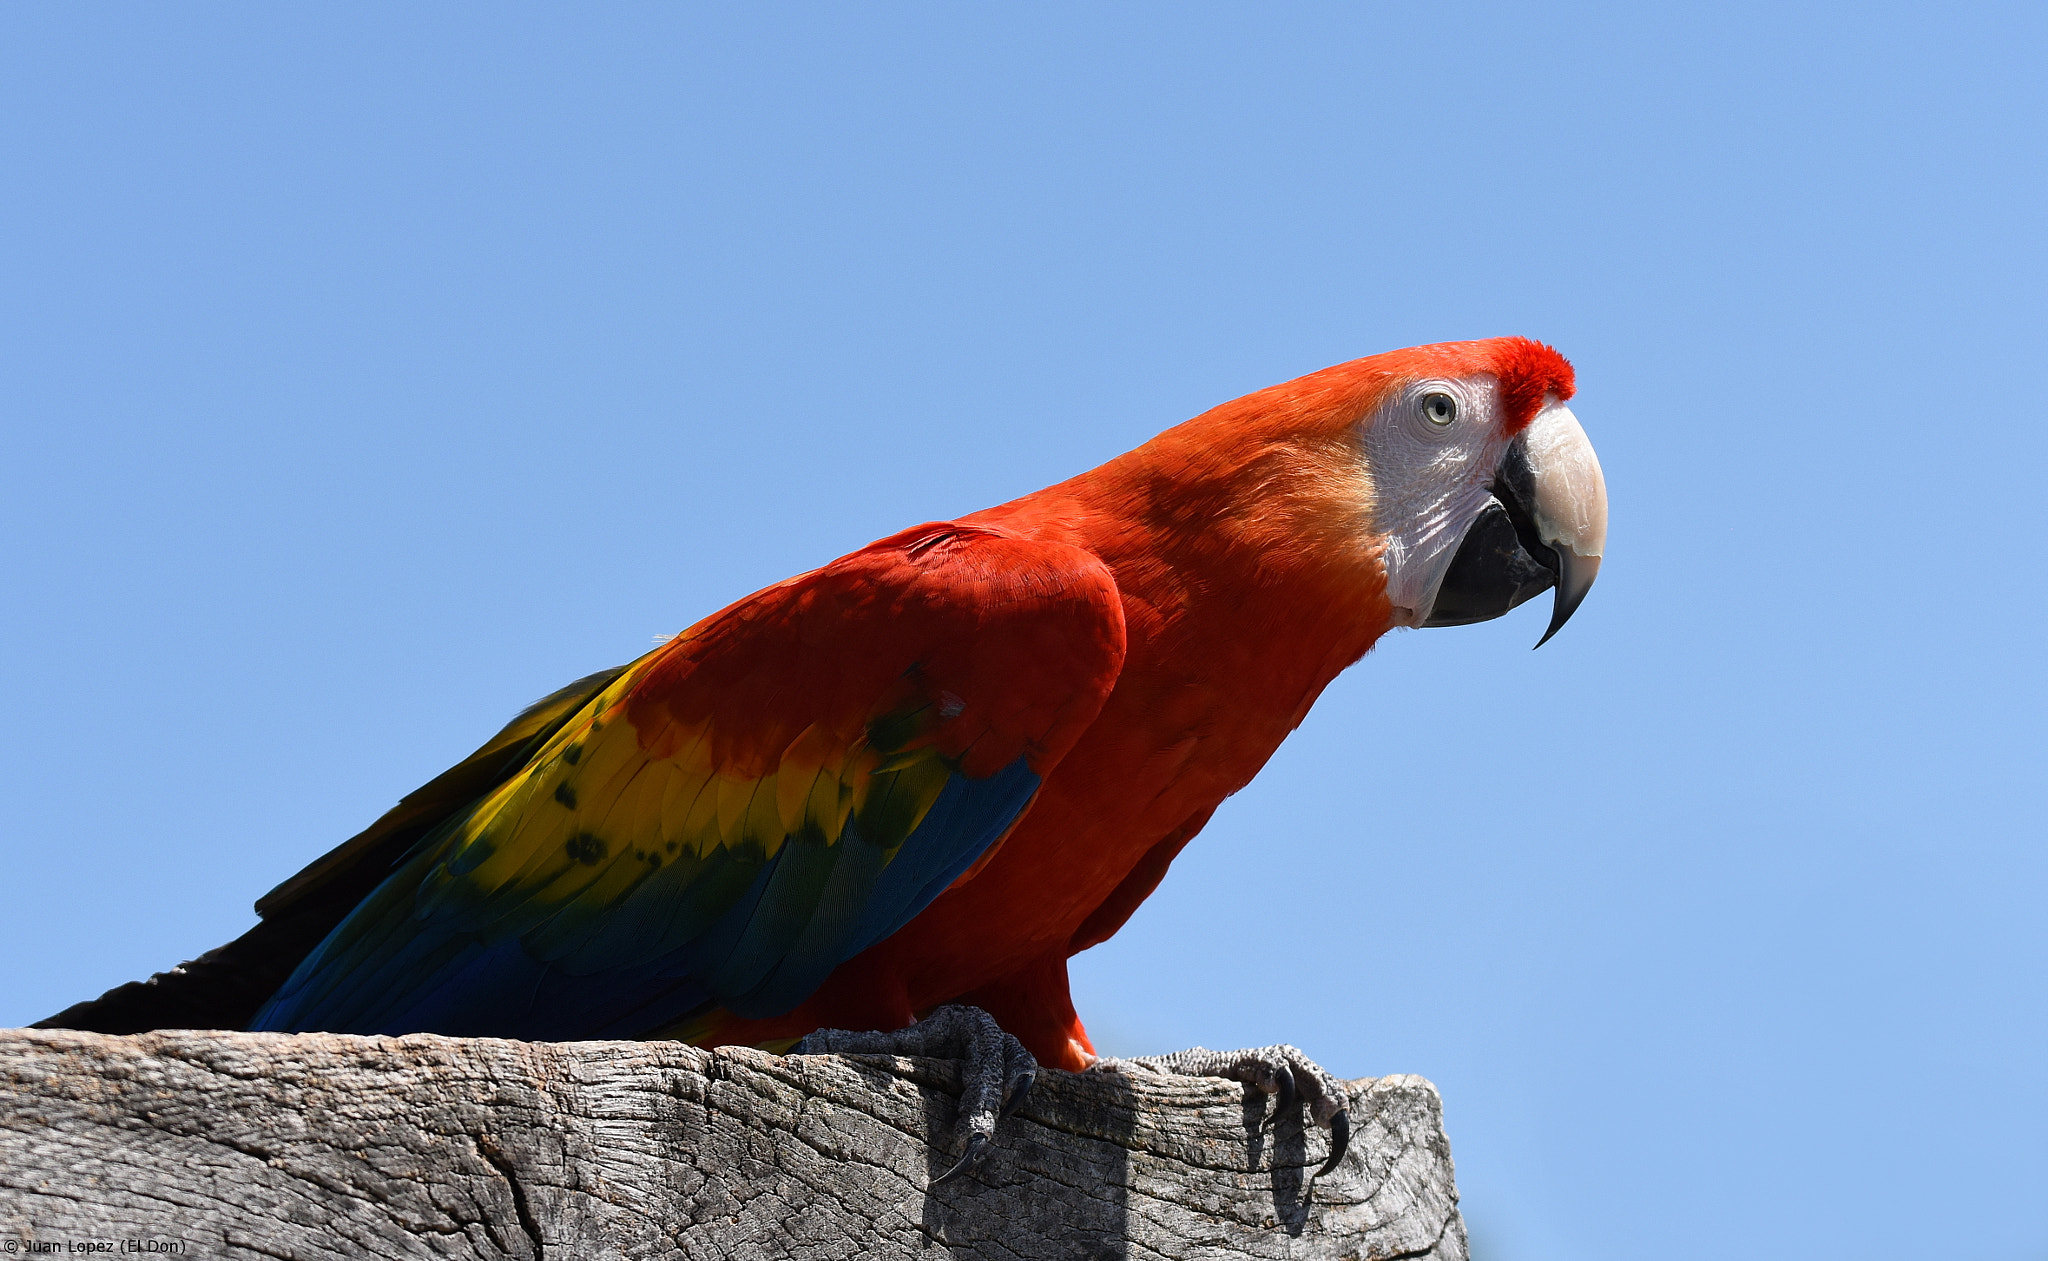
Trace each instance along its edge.
{"label": "red upper shoulder section of the parrot's folded wing", "polygon": [[844,747],[883,714],[956,706],[903,747],[930,745],[973,778],[1018,757],[1042,770],[1094,719],[1087,698],[1116,676],[1120,622],[1116,588],[1087,553],[924,524],[678,635],[625,712],[655,755],[711,725],[715,759],[760,776],[817,714],[834,716],[823,743]]}

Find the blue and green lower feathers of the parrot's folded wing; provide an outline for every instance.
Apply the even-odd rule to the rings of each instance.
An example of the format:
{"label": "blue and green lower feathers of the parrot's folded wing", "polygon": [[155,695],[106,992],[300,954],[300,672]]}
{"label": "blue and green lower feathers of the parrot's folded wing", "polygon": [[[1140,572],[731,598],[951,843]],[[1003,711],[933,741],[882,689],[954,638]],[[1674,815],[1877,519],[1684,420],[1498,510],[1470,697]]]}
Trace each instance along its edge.
{"label": "blue and green lower feathers of the parrot's folded wing", "polygon": [[[1010,831],[1036,790],[1024,759],[987,780],[954,774],[893,856],[852,825],[836,843],[791,837],[737,897],[705,897],[729,890],[743,868],[721,850],[680,890],[635,888],[571,948],[545,919],[492,931],[471,907],[426,895],[446,856],[422,847],[307,956],[250,1028],[631,1038],[715,1005],[778,1015],[924,911]],[[649,950],[678,936],[680,946]]]}

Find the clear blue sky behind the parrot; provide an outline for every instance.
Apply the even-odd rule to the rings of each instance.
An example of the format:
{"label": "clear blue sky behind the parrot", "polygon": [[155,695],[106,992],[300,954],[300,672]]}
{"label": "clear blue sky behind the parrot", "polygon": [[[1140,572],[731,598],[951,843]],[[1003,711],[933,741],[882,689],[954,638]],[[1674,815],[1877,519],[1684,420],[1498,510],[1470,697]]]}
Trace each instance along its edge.
{"label": "clear blue sky behind the parrot", "polygon": [[1481,1261],[2048,1257],[2042,12],[12,4],[0,1024],[735,596],[1528,334],[1599,588],[1343,676],[1083,1015],[1434,1079]]}

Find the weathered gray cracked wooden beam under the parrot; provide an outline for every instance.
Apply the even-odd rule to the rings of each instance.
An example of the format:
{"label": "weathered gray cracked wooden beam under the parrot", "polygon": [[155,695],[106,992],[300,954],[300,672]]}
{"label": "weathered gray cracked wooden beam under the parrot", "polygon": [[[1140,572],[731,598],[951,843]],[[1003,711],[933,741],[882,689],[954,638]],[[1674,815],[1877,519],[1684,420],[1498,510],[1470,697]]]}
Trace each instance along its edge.
{"label": "weathered gray cracked wooden beam under the parrot", "polygon": [[[186,1257],[1464,1261],[1419,1077],[1352,1153],[1225,1081],[1047,1071],[977,1175],[950,1060],[676,1042],[0,1032],[0,1241]],[[930,1136],[938,1136],[938,1146]],[[18,1247],[18,1245],[16,1245]]]}

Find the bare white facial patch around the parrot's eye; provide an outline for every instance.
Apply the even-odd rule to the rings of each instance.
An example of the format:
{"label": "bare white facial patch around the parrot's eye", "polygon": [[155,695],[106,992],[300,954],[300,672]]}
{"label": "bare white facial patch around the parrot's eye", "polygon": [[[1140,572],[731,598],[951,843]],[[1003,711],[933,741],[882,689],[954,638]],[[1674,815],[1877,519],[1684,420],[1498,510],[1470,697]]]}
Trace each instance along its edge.
{"label": "bare white facial patch around the parrot's eye", "polygon": [[[1456,401],[1444,424],[1442,397]],[[1419,626],[1458,542],[1491,497],[1507,438],[1489,375],[1407,385],[1364,420],[1374,530],[1386,536],[1386,600]]]}

